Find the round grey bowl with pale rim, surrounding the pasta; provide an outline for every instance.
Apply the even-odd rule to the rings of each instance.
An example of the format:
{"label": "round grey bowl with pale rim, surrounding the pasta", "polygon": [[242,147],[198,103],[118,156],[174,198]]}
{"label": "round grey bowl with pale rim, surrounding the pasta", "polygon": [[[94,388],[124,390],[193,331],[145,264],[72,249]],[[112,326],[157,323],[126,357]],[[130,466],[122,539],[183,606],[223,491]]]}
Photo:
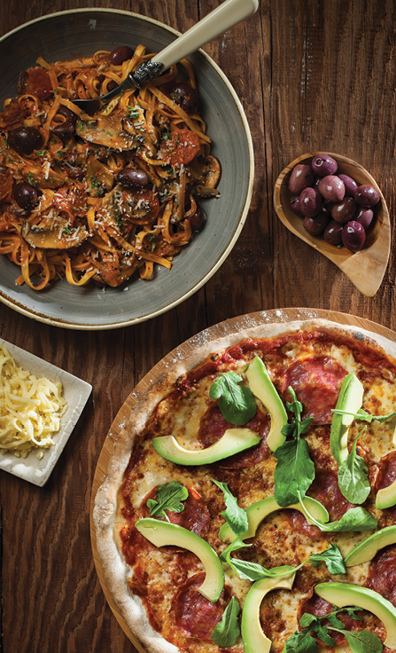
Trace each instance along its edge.
{"label": "round grey bowl with pale rim, surrounding the pasta", "polygon": [[[174,29],[134,13],[81,9],[53,13],[14,29],[0,39],[0,100],[15,95],[19,71],[44,59],[74,59],[118,45],[148,51],[164,48]],[[111,329],[151,319],[202,287],[221,266],[245,223],[252,196],[252,138],[244,110],[229,81],[204,51],[190,56],[195,67],[201,112],[221,161],[221,197],[206,200],[207,222],[190,246],[175,257],[171,271],[158,268],[153,279],[133,279],[127,287],[99,290],[71,287],[65,279],[37,292],[17,287],[19,268],[0,256],[0,301],[30,318],[72,329]],[[127,290],[128,288],[128,290]]]}

